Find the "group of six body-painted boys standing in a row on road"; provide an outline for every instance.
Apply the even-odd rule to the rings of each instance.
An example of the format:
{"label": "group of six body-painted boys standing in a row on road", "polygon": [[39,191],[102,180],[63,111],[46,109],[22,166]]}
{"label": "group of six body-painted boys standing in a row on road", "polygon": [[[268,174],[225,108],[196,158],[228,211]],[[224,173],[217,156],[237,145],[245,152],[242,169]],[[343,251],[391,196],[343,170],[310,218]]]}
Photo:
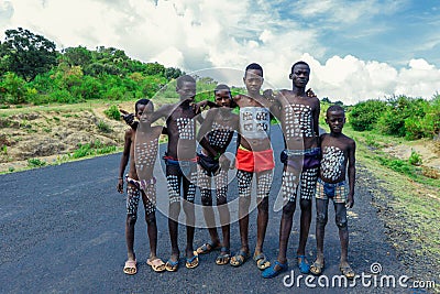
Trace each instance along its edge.
{"label": "group of six body-painted boys standing in a row on road", "polygon": [[[199,254],[220,249],[216,259],[219,265],[242,265],[250,257],[249,209],[251,205],[252,179],[256,177],[257,232],[253,260],[262,270],[263,277],[274,277],[287,270],[287,243],[293,226],[296,198],[299,198],[300,235],[297,249],[297,264],[301,273],[321,274],[324,268],[323,236],[327,225],[328,203],[331,198],[336,209],[336,222],[341,241],[340,270],[348,279],[354,277],[354,271],[348,263],[348,221],[346,208],[354,204],[355,143],[342,133],[345,122],[344,110],[331,106],[327,110],[326,122],[330,133],[319,135],[320,102],[312,91],[306,91],[310,68],[307,63],[298,62],[292,66],[289,78],[292,90],[280,90],[274,95],[271,90],[261,94],[264,81],[263,68],[250,64],[244,72],[243,81],[248,92],[232,97],[226,85],[215,90],[216,102],[194,104],[196,80],[190,76],[177,78],[176,91],[179,102],[165,105],[154,111],[152,101],[141,99],[135,105],[135,117],[125,116],[131,128],[125,132],[125,144],[119,171],[118,190],[123,193],[123,174],[130,161],[125,176],[127,225],[125,239],[128,260],[124,273],[136,273],[136,258],[133,250],[134,224],[136,221],[140,196],[145,207],[145,219],[150,239],[151,255],[147,264],[154,271],[177,271],[179,248],[177,242],[178,217],[180,207],[186,216],[186,268],[199,264]],[[200,109],[211,107],[205,119]],[[233,113],[238,106],[240,113]],[[275,262],[270,262],[263,252],[268,224],[268,194],[275,167],[271,145],[271,119],[275,117],[284,134],[285,150],[280,154],[284,163],[282,176],[283,215],[279,229],[279,253]],[[152,122],[165,118],[166,128],[152,127]],[[196,124],[200,123],[196,133]],[[226,156],[226,150],[237,132],[237,152],[234,161]],[[157,227],[155,221],[155,177],[154,162],[157,155],[158,137],[168,134],[166,179],[169,196],[168,230],[172,255],[164,263],[156,255]],[[197,142],[201,151],[197,152]],[[239,189],[239,228],[241,248],[234,254],[230,252],[230,213],[227,205],[228,170],[237,167]],[[348,177],[348,181],[345,179]],[[215,182],[217,206],[220,215],[223,240],[216,229],[212,210],[211,178]],[[211,241],[194,250],[195,235],[195,194],[199,187],[204,217],[209,228]],[[180,193],[180,187],[183,193]],[[182,194],[182,197],[180,197]],[[183,198],[183,200],[182,200]],[[312,199],[317,211],[317,259],[310,265],[306,259],[306,242],[311,222]]]}

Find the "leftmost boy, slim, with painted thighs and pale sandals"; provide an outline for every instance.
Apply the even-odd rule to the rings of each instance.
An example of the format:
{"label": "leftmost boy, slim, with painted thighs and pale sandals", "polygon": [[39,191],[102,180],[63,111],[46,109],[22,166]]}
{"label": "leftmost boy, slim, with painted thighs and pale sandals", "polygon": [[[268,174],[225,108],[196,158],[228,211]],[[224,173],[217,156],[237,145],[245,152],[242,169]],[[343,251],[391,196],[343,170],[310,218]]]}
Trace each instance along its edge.
{"label": "leftmost boy, slim, with painted thighs and pale sandals", "polygon": [[[119,179],[117,189],[123,193],[123,174],[130,161],[129,173],[125,176],[127,184],[127,221],[125,221],[125,241],[128,248],[128,261],[123,272],[125,274],[135,274],[136,257],[133,250],[134,244],[134,225],[138,219],[138,206],[140,196],[145,208],[145,221],[147,225],[147,235],[150,239],[150,258],[147,264],[156,272],[165,271],[165,263],[156,255],[157,246],[157,226],[155,217],[156,187],[153,176],[154,162],[157,155],[158,137],[162,133],[162,127],[151,127],[148,117],[154,111],[153,102],[148,99],[141,99],[135,104],[135,117],[141,119],[141,123],[133,124],[125,131],[124,150],[119,167]],[[135,143],[136,141],[136,143]],[[143,144],[146,153],[135,156],[135,149],[139,148],[139,141]]]}

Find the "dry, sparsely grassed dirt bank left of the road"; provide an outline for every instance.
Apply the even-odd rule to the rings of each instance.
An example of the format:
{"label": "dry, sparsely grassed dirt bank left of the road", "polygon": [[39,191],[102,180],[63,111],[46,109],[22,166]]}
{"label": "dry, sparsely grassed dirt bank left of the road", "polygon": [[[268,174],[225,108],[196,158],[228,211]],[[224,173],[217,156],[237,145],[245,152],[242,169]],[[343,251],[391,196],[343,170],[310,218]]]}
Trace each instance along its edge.
{"label": "dry, sparsely grassed dirt bank left of the road", "polygon": [[[133,109],[133,102],[119,105]],[[0,172],[18,171],[28,160],[40,159],[47,164],[73,153],[79,144],[123,145],[127,126],[105,116],[110,105],[88,110],[42,111],[26,109],[26,113],[0,118]]]}

